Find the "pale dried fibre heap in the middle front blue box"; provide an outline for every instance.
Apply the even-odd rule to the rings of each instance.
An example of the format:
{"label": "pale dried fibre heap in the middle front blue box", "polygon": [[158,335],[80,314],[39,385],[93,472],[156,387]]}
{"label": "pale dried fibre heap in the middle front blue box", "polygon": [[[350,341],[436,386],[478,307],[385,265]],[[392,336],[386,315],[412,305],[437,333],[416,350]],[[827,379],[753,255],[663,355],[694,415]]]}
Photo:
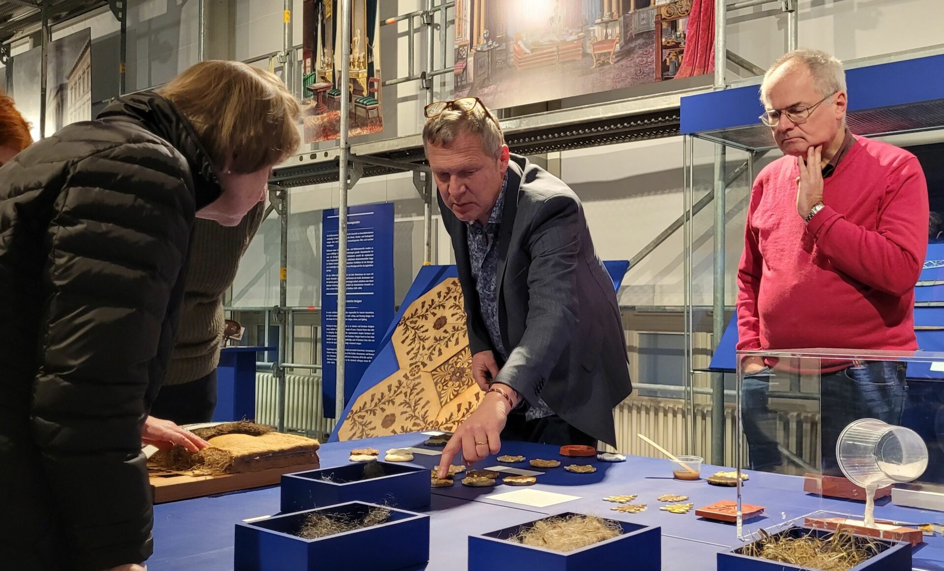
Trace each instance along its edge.
{"label": "pale dried fibre heap in the middle front blue box", "polygon": [[573,551],[592,546],[623,534],[615,521],[597,515],[548,517],[521,529],[509,541],[525,546],[544,547],[554,551]]}

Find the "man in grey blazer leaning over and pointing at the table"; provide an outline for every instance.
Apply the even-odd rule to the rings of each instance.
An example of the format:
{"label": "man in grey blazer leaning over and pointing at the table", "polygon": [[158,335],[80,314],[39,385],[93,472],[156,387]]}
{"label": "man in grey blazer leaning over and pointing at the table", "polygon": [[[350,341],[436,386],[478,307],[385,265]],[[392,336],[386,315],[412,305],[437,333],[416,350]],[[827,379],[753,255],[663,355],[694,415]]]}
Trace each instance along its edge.
{"label": "man in grey blazer leaning over and pointing at the table", "polygon": [[501,440],[615,444],[632,391],[613,281],[580,199],[510,155],[478,98],[432,104],[423,143],[465,298],[473,377],[486,391],[443,452],[466,463]]}

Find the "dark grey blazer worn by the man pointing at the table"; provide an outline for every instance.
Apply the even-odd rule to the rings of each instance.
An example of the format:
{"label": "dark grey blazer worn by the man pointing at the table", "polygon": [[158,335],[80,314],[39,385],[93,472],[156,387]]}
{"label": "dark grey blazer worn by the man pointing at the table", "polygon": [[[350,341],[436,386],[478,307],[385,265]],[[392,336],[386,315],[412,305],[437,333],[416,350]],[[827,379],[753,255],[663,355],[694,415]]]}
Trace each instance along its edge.
{"label": "dark grey blazer worn by the man pointing at the table", "polygon": [[[613,408],[632,383],[613,280],[594,250],[577,194],[517,155],[508,176],[496,283],[509,357],[496,380],[530,403],[542,397],[571,426],[615,445]],[[481,317],[467,226],[442,196],[439,208],[456,254],[469,346],[500,360]]]}

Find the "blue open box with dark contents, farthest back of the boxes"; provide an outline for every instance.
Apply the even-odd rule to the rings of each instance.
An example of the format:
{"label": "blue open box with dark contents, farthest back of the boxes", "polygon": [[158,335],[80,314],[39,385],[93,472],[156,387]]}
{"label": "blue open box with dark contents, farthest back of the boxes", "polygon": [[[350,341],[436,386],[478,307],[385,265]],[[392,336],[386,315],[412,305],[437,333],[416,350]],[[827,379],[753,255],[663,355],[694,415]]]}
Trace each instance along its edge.
{"label": "blue open box with dark contents, farthest back of the boxes", "polygon": [[[362,479],[364,469],[383,476]],[[413,510],[430,505],[430,470],[396,462],[351,463],[282,476],[281,511],[297,512],[348,501]]]}

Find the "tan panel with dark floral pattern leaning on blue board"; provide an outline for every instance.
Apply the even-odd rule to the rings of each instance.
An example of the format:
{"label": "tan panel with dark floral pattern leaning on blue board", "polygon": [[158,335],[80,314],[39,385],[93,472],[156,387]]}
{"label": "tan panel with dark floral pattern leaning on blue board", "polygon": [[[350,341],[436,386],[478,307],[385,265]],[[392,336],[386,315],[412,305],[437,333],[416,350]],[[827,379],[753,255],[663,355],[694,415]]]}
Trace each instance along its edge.
{"label": "tan panel with dark floral pattern leaning on blue board", "polygon": [[394,330],[399,370],[359,396],[339,440],[453,431],[478,408],[462,287],[452,277],[410,304]]}

